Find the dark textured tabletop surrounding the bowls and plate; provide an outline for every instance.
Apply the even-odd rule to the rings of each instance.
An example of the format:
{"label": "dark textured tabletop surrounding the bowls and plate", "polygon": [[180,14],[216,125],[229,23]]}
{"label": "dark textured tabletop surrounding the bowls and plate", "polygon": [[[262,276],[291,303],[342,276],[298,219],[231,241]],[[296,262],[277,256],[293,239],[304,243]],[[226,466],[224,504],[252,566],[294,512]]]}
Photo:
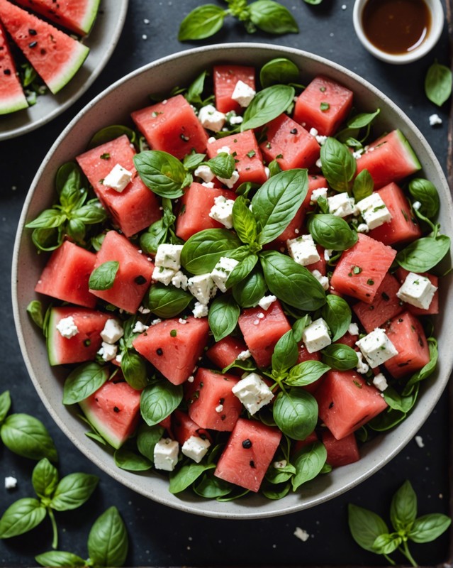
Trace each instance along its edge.
{"label": "dark textured tabletop surrounding the bowls and plate", "polygon": [[[359,44],[352,27],[352,0],[324,0],[319,6],[309,6],[302,0],[282,0],[281,3],[293,11],[301,28],[299,34],[282,37],[259,33],[247,35],[240,24],[228,20],[223,31],[211,38],[211,43],[252,40],[289,45],[348,67],[406,111],[447,171],[447,104],[437,109],[427,101],[423,92],[423,77],[432,60],[437,57],[440,62],[447,63],[447,26],[440,43],[423,60],[393,67],[372,58]],[[352,541],[347,528],[347,503],[371,508],[388,520],[391,495],[405,479],[410,479],[419,496],[420,514],[448,513],[450,427],[447,393],[420,428],[419,434],[425,446],[420,448],[414,440],[410,441],[390,464],[347,494],[323,506],[279,518],[223,521],[179,513],[147,501],[99,471],[62,435],[47,415],[22,361],[11,310],[11,256],[16,224],[33,176],[52,142],[72,116],[111,82],[151,60],[208,43],[208,40],[192,44],[177,41],[181,18],[198,4],[198,0],[130,0],[120,43],[89,92],[72,109],[38,131],[0,143],[0,271],[4,275],[0,285],[3,316],[0,327],[0,392],[6,388],[11,391],[13,412],[30,413],[43,420],[60,454],[61,476],[72,471],[85,471],[101,478],[99,488],[86,505],[69,513],[56,513],[60,550],[70,550],[86,557],[86,537],[91,523],[108,506],[115,505],[128,527],[129,566],[379,565],[380,557],[365,552]],[[345,10],[342,4],[347,6]],[[150,23],[146,24],[145,18]],[[142,38],[143,34],[146,39]],[[442,126],[435,129],[428,121],[433,112],[443,119]],[[30,483],[33,465],[33,462],[11,454],[0,445],[0,513],[17,498],[33,495]],[[18,487],[12,491],[4,489],[4,477],[9,475],[18,479]],[[311,535],[309,540],[298,540],[293,535],[296,527],[308,531]],[[33,557],[50,550],[50,545],[50,523],[45,520],[27,535],[0,541],[0,565],[33,565]],[[413,545],[412,550],[420,564],[432,566],[447,562],[449,536],[444,535],[432,544]]]}

